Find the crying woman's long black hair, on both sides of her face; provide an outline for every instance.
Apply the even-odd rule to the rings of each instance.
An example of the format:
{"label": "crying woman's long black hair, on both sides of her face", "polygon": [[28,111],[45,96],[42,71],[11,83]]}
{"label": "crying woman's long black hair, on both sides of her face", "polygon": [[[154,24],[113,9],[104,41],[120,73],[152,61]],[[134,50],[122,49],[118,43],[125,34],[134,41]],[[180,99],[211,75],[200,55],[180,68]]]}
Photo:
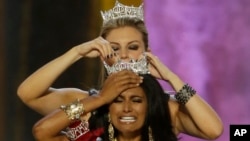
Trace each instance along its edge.
{"label": "crying woman's long black hair, on both sides of her face", "polygon": [[[169,95],[164,93],[160,83],[152,75],[146,74],[142,76],[144,79],[140,87],[145,92],[148,103],[147,116],[142,127],[142,140],[149,140],[148,128],[150,127],[154,141],[177,141],[171,125],[171,116],[168,107]],[[99,126],[92,126],[92,128],[104,127],[104,134],[102,135],[104,141],[109,140],[107,114],[108,105],[105,105],[94,113],[93,117],[95,119],[91,117],[92,120],[90,120],[90,125],[99,124]],[[115,133],[117,134],[117,131]]]}

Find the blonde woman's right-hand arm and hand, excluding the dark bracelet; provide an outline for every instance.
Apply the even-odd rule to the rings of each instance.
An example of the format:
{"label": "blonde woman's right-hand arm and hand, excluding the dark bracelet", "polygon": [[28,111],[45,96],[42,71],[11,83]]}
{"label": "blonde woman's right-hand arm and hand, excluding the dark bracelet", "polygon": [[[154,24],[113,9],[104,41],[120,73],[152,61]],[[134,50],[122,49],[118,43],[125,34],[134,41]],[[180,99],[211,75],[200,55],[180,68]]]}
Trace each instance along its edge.
{"label": "blonde woman's right-hand arm and hand, excluding the dark bracelet", "polygon": [[[151,53],[147,55],[151,64],[150,72],[155,77],[165,80],[178,92],[185,83],[156,56]],[[176,134],[185,133],[204,139],[215,139],[221,135],[223,131],[221,119],[199,94],[191,97],[185,105],[170,101],[169,106]]]}

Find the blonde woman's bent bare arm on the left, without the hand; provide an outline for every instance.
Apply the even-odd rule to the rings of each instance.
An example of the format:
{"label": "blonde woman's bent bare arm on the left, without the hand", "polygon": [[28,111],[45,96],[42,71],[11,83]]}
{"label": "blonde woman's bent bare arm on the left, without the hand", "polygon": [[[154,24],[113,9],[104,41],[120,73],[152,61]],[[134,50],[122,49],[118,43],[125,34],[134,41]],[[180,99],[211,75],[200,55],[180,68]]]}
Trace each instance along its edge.
{"label": "blonde woman's bent bare arm on the left, without the hand", "polygon": [[[80,59],[75,48],[72,48],[62,56],[47,63],[32,75],[30,75],[18,88],[18,96],[32,109],[41,114],[47,114],[62,103],[67,93],[81,93],[76,89],[54,89],[53,82],[71,64]],[[65,101],[67,102],[67,101]],[[46,103],[48,105],[46,105]]]}

